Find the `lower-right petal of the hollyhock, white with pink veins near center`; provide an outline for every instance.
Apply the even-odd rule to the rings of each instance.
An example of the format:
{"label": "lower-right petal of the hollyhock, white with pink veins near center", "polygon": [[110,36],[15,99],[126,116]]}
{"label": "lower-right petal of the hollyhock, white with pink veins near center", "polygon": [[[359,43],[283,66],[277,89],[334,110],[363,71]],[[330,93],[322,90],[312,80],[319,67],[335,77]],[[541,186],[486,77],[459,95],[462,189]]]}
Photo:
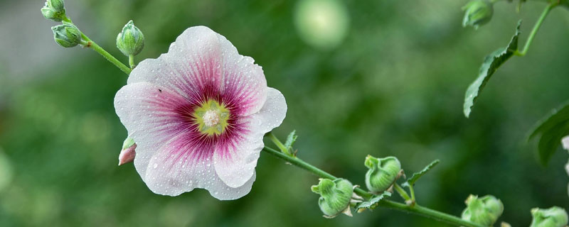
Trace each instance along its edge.
{"label": "lower-right petal of the hollyhock, white with pink veins near center", "polygon": [[229,187],[240,187],[254,174],[264,145],[263,135],[280,126],[287,114],[285,96],[277,89],[267,91],[267,101],[260,111],[243,118],[248,122],[248,131],[216,147],[213,163],[218,176]]}

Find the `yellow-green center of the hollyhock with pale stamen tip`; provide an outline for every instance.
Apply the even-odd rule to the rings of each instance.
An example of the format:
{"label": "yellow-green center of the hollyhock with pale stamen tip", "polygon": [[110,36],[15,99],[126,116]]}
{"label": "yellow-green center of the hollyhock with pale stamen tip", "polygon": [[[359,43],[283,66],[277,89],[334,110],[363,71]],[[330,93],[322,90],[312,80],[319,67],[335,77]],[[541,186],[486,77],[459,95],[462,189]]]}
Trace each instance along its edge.
{"label": "yellow-green center of the hollyhock with pale stamen tip", "polygon": [[220,135],[228,126],[229,110],[216,100],[208,100],[196,108],[193,117],[198,130],[206,135]]}

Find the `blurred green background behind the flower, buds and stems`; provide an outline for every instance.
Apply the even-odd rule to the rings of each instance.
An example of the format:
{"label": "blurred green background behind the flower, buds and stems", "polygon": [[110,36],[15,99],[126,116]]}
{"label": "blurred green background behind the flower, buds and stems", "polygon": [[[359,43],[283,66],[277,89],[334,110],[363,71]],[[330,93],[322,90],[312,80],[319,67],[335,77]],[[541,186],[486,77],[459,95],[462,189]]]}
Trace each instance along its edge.
{"label": "blurred green background behind the flower, buds and stems", "polygon": [[[282,0],[65,4],[123,62],[115,38],[129,19],[146,37],[137,60],[166,52],[190,26],[225,35],[285,94],[275,133],[297,129],[299,157],[355,184],[368,154],[396,155],[408,173],[438,158],[416,186],[424,206],[459,215],[468,194],[493,194],[506,207],[500,221],[513,226],[528,226],[536,206],[569,209],[567,153],[541,167],[525,142],[569,97],[566,9],[551,13],[526,57],[495,74],[467,119],[464,91],[484,55],[509,42],[519,18],[525,41],[544,4],[516,13],[499,2],[478,31],[461,27],[466,1],[456,0],[346,0],[315,11]],[[56,45],[41,6],[0,8],[0,226],[445,226],[387,209],[323,218],[309,190],[317,177],[265,153],[242,199],[151,193],[132,163],[117,167],[126,131],[113,98],[127,77],[92,50]]]}

